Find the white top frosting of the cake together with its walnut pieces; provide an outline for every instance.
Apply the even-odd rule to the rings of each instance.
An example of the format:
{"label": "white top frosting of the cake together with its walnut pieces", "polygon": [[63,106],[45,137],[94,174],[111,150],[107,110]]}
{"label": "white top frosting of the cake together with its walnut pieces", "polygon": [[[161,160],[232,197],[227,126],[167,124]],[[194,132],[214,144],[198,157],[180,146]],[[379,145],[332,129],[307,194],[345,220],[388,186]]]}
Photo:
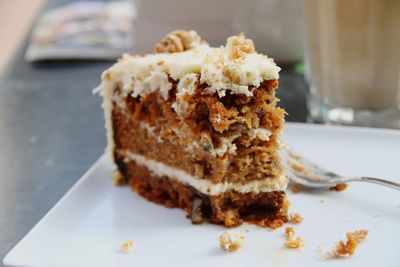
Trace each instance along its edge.
{"label": "white top frosting of the cake together with its walnut pieces", "polygon": [[179,92],[190,92],[188,86],[205,84],[205,91],[225,96],[253,95],[253,87],[264,80],[279,78],[280,68],[273,59],[255,51],[253,41],[243,34],[227,39],[225,46],[211,47],[194,31],[175,31],[155,47],[156,53],[124,55],[103,73],[104,86],[120,84],[124,93],[134,97],[159,90],[164,99],[179,82]]}

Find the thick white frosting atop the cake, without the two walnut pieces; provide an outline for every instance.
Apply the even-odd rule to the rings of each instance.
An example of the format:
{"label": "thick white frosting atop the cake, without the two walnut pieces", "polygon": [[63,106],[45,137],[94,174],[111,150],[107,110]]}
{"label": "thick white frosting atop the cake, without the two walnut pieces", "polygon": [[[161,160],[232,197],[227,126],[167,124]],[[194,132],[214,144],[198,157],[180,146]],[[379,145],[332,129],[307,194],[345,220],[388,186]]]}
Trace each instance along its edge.
{"label": "thick white frosting atop the cake, without the two walnut pieces", "polygon": [[178,81],[188,74],[200,74],[200,82],[208,85],[206,92],[218,93],[220,97],[225,96],[226,91],[252,96],[249,86],[258,87],[263,80],[278,79],[279,71],[266,55],[252,52],[231,59],[227,47],[201,44],[179,53],[124,55],[105,71],[103,82],[107,74],[114,85],[122,84],[122,89],[134,97],[159,90],[167,99],[172,87],[168,77]]}

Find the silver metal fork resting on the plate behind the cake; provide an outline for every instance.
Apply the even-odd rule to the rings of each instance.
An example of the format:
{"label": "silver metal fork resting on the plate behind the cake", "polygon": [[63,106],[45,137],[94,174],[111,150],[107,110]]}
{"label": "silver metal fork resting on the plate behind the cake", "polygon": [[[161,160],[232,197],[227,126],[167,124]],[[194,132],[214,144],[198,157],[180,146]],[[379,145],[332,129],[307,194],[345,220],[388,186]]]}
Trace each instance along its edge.
{"label": "silver metal fork resting on the plate behind the cake", "polygon": [[400,184],[380,178],[355,176],[344,177],[325,170],[305,159],[287,144],[281,143],[280,157],[285,168],[286,176],[295,183],[306,187],[331,187],[345,182],[369,182],[400,190]]}

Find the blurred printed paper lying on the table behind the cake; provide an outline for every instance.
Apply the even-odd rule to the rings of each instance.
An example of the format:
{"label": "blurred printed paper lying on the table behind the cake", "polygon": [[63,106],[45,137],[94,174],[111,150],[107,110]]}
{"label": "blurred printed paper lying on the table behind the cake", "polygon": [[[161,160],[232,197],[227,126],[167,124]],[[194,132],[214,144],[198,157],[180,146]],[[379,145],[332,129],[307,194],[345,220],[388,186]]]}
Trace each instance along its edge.
{"label": "blurred printed paper lying on the table behind the cake", "polygon": [[118,58],[132,50],[135,17],[132,1],[76,2],[46,11],[33,29],[25,58]]}

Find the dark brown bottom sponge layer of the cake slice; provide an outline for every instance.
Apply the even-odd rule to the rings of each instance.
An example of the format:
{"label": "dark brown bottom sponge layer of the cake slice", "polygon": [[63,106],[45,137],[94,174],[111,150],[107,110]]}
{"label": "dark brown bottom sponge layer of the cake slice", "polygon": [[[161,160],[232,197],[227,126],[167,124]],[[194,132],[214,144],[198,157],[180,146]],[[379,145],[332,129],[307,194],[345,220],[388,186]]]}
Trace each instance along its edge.
{"label": "dark brown bottom sponge layer of the cake slice", "polygon": [[166,207],[184,209],[195,224],[207,221],[234,227],[246,221],[276,228],[288,221],[289,202],[283,191],[228,191],[210,196],[167,176],[156,176],[145,166],[133,161],[119,161],[118,165],[125,181],[134,191]]}

